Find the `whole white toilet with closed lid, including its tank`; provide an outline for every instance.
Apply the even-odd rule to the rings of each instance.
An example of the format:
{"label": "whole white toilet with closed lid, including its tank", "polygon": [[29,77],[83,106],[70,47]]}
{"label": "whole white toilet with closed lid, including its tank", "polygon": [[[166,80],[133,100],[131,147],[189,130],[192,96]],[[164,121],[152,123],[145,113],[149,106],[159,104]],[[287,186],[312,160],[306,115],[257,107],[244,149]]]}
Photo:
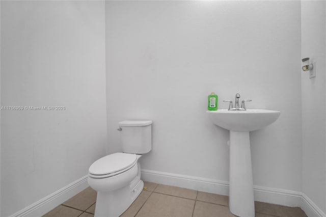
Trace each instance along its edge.
{"label": "whole white toilet with closed lid, including its tank", "polygon": [[88,184],[97,192],[95,216],[119,216],[144,187],[138,159],[152,149],[152,121],[121,121],[123,153],[96,160],[89,168]]}

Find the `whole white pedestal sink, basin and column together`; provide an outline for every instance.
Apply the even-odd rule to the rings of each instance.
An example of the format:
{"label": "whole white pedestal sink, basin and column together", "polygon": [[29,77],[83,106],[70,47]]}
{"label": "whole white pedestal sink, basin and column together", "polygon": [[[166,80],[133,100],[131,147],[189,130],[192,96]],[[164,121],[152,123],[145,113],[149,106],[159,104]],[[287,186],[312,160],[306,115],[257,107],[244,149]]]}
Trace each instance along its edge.
{"label": "whole white pedestal sink, basin and column together", "polygon": [[254,188],[249,132],[275,122],[281,112],[273,110],[207,111],[213,124],[230,130],[230,211],[254,217]]}

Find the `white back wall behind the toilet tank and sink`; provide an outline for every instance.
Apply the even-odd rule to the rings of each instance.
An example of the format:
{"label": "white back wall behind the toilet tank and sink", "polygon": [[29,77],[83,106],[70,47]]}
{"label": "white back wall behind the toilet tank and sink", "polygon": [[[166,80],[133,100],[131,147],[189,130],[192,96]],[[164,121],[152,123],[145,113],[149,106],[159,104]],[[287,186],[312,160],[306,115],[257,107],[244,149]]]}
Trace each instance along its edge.
{"label": "white back wall behind the toilet tank and sink", "polygon": [[251,133],[254,184],[301,192],[300,2],[106,2],[108,152],[117,123],[153,120],[143,169],[228,180],[229,133],[207,95],[281,111]]}

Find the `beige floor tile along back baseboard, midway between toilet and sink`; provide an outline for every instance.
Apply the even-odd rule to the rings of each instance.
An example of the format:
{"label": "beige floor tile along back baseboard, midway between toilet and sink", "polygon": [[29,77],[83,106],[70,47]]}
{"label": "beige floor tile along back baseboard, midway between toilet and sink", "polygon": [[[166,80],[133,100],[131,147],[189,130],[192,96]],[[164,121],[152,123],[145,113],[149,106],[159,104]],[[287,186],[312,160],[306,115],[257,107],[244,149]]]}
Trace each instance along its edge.
{"label": "beige floor tile along back baseboard, midway between toilet and sink", "polygon": [[197,191],[195,190],[164,184],[157,185],[154,192],[192,200],[196,200],[197,196]]}

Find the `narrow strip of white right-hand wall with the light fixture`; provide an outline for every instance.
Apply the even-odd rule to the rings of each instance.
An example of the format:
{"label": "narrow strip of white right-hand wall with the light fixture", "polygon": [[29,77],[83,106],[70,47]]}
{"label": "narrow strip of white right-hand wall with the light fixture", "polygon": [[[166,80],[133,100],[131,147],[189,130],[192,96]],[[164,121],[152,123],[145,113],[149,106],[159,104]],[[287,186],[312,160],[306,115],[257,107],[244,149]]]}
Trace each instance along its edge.
{"label": "narrow strip of white right-hand wall with the light fixture", "polygon": [[303,187],[305,193],[324,213],[325,200],[325,49],[326,4],[324,1],[302,1],[301,57],[316,62],[316,77],[302,72],[302,140]]}

